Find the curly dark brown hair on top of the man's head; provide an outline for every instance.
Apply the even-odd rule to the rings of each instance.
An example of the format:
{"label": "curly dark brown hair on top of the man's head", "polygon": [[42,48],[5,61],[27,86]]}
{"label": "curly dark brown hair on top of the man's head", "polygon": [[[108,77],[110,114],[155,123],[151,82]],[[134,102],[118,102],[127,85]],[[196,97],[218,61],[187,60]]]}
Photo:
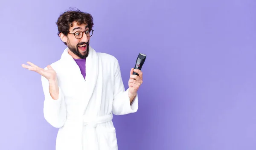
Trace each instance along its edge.
{"label": "curly dark brown hair on top of the man's head", "polygon": [[[77,22],[78,25],[88,24],[89,30],[93,28],[93,17],[91,14],[82,12],[79,9],[70,10],[62,13],[56,22],[58,26],[58,36],[60,33],[67,35],[70,27],[73,26],[73,22]],[[64,42],[67,45],[66,42]]]}

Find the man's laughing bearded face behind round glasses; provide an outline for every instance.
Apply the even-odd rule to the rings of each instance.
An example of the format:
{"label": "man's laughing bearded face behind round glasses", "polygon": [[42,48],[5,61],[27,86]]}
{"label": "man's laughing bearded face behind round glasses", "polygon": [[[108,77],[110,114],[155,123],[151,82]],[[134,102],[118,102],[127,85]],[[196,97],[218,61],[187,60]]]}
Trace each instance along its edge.
{"label": "man's laughing bearded face behind round glasses", "polygon": [[[77,25],[76,22],[73,23],[73,26],[70,27],[70,33],[75,33],[76,31],[87,31],[89,30],[87,24]],[[89,52],[89,41],[90,37],[87,37],[83,32],[83,37],[77,39],[74,34],[67,35],[67,47],[70,49],[73,54],[78,56],[81,59],[84,59],[88,56]]]}

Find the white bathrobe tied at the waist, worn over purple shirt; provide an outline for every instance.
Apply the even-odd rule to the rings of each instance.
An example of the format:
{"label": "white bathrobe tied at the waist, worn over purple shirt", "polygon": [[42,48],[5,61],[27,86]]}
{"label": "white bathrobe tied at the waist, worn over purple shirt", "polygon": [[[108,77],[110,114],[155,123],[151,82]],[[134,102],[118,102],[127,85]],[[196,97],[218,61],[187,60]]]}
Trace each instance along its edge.
{"label": "white bathrobe tied at the waist, worn over purple shirt", "polygon": [[118,60],[89,46],[85,80],[67,48],[51,66],[58,78],[57,100],[49,94],[48,80],[43,76],[41,79],[44,117],[59,128],[56,150],[117,150],[113,114],[124,115],[138,109],[138,96],[130,105]]}

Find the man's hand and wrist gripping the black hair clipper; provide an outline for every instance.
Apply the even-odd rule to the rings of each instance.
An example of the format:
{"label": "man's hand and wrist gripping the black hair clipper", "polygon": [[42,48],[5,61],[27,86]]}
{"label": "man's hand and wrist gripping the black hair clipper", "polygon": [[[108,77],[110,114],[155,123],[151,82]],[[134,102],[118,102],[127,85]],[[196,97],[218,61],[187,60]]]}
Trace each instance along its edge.
{"label": "man's hand and wrist gripping the black hair clipper", "polygon": [[[139,76],[133,74],[133,72],[136,72],[137,74],[139,74]],[[139,69],[131,68],[130,79],[128,81],[128,85],[129,85],[128,96],[130,97],[131,102],[134,99],[134,97],[137,95],[137,91],[139,90],[142,82],[143,82],[142,71],[140,71]]]}

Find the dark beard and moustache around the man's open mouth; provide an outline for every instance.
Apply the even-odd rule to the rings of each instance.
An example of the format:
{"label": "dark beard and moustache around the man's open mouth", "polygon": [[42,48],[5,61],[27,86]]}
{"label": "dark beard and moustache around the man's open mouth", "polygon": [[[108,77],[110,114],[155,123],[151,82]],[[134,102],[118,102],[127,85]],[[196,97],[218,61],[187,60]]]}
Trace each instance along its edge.
{"label": "dark beard and moustache around the man's open mouth", "polygon": [[[86,44],[86,51],[84,53],[80,53],[78,50],[78,45],[84,45]],[[89,54],[89,41],[88,42],[80,42],[76,46],[73,46],[70,44],[69,39],[67,40],[67,47],[72,51],[76,56],[78,56],[81,59],[85,59]]]}

